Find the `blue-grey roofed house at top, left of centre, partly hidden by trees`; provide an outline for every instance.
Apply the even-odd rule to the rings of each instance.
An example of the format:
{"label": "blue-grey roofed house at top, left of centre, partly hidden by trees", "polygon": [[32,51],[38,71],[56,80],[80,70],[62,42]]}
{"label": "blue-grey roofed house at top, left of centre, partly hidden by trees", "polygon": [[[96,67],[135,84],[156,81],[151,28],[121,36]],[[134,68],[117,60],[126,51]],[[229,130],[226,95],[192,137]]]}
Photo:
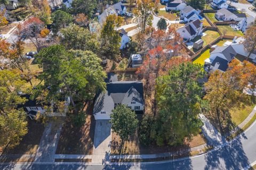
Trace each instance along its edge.
{"label": "blue-grey roofed house at top, left of centre, partly hidden by trees", "polygon": [[114,5],[110,5],[104,10],[99,16],[99,23],[100,25],[103,25],[103,23],[106,21],[106,18],[108,15],[116,14],[116,15],[124,15],[126,14],[126,7],[123,5],[122,2],[118,2]]}

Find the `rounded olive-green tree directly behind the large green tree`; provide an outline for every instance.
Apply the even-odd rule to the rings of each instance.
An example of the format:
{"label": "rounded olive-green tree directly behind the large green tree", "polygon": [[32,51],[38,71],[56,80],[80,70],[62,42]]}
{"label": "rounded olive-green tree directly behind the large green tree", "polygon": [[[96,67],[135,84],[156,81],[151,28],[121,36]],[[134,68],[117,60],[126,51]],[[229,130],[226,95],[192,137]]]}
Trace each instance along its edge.
{"label": "rounded olive-green tree directly behind the large green tree", "polygon": [[61,29],[61,43],[67,49],[90,50],[97,53],[99,50],[99,41],[95,33],[88,29],[72,24],[65,29]]}

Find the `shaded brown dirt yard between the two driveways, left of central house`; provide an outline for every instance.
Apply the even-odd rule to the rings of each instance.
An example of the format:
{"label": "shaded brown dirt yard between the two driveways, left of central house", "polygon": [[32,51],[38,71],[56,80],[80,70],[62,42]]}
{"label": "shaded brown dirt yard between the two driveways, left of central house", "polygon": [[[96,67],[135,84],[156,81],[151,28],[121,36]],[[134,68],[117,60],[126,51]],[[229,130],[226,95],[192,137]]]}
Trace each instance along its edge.
{"label": "shaded brown dirt yard between the two driveways, left of central house", "polygon": [[78,128],[69,120],[62,127],[56,154],[91,155],[95,129],[94,116],[88,115],[84,125]]}

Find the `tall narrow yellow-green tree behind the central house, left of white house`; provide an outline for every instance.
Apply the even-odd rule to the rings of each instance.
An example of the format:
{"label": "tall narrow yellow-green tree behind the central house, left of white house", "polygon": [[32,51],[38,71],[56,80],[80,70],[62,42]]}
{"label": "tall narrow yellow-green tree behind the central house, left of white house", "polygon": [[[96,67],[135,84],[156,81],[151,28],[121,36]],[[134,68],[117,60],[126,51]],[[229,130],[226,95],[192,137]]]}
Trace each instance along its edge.
{"label": "tall narrow yellow-green tree behind the central house, left of white house", "polygon": [[109,15],[101,30],[101,48],[102,54],[117,58],[119,56],[119,48],[121,47],[121,37],[119,36],[118,27],[121,26],[123,18],[121,16]]}

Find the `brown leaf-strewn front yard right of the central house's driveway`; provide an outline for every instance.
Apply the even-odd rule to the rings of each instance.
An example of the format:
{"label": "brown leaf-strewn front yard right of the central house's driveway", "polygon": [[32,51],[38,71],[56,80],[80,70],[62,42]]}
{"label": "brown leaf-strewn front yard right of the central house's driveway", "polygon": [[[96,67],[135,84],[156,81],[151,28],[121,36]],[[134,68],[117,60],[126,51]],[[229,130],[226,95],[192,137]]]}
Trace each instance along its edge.
{"label": "brown leaf-strewn front yard right of the central house's driveway", "polygon": [[[142,116],[138,115],[138,119],[141,120]],[[119,154],[119,143],[121,142],[120,138],[116,133],[112,133],[112,142],[113,145],[111,147],[111,154]],[[198,134],[196,137],[193,138],[191,142],[185,142],[185,145],[178,146],[178,147],[169,147],[169,146],[162,146],[158,147],[156,145],[152,145],[149,147],[143,147],[140,145],[139,142],[139,134],[138,130],[135,132],[135,134],[130,137],[130,141],[124,144],[124,151],[123,154],[159,154],[164,152],[171,152],[171,151],[177,151],[180,149],[185,149],[189,147],[196,147],[203,145],[206,142],[203,135]],[[126,147],[126,148],[125,148]]]}

